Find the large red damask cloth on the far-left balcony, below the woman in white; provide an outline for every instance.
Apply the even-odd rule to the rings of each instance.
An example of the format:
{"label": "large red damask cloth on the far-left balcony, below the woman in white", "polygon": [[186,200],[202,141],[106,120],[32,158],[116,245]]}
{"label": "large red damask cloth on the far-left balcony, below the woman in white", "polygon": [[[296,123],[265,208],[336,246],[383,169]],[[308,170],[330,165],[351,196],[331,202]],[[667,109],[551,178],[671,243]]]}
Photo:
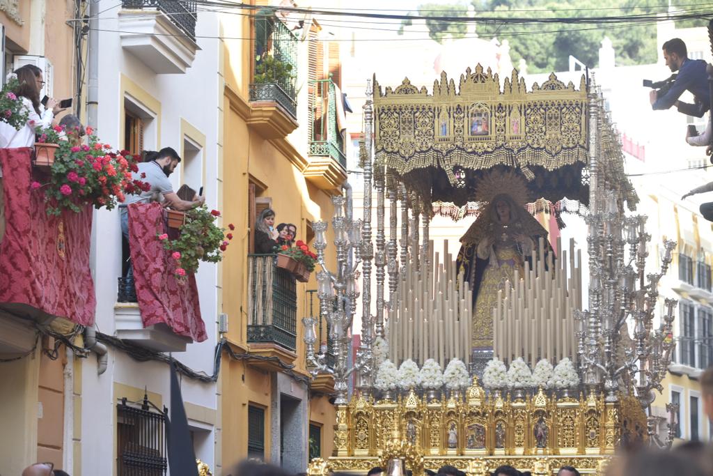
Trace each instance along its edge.
{"label": "large red damask cloth on the far-left balcony, below the woman in white", "polygon": [[30,148],[0,149],[6,231],[0,243],[0,304],[34,318],[93,325],[96,298],[89,270],[91,206],[48,216],[32,191]]}

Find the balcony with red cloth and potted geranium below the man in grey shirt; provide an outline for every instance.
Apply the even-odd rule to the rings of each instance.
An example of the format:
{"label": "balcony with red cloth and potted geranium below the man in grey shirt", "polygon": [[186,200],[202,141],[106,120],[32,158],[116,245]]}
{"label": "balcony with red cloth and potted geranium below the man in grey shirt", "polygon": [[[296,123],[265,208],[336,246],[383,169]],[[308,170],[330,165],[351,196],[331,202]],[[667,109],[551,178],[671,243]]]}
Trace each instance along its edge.
{"label": "balcony with red cloth and potted geranium below the man in grey shirt", "polygon": [[133,203],[126,213],[133,278],[119,278],[116,336],[151,350],[183,352],[207,338],[195,273],[200,261],[222,260],[234,227],[218,226],[220,212],[206,206],[175,212],[156,202]]}

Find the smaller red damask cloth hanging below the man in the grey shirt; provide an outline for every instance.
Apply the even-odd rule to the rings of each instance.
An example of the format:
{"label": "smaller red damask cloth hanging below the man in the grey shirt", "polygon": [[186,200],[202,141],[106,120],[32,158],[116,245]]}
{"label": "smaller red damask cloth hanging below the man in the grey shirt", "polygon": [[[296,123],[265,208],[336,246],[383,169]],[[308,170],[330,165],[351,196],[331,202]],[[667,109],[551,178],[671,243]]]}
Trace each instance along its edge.
{"label": "smaller red damask cloth hanging below the man in the grey shirt", "polygon": [[165,211],[159,203],[135,203],[128,206],[128,213],[131,263],[144,327],[164,323],[174,333],[202,342],[207,335],[195,276],[176,278],[176,261],[158,239],[158,234],[168,233]]}

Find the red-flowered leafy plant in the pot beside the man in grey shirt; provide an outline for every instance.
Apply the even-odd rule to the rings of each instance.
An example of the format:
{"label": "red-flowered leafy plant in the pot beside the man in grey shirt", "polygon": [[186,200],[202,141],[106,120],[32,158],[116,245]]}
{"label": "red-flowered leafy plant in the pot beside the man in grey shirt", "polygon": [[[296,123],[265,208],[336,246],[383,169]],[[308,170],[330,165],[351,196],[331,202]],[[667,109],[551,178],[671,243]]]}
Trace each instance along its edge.
{"label": "red-flowered leafy plant in the pot beside the man in grey shirt", "polygon": [[[175,274],[179,278],[195,273],[199,260],[207,263],[222,260],[222,252],[232,240],[232,233],[225,235],[225,228],[215,224],[219,216],[220,211],[208,211],[205,205],[191,208],[185,212],[185,221],[178,230],[180,235],[177,239],[169,240],[168,234],[156,233],[158,239],[163,241],[163,248],[169,250],[176,260],[178,267]],[[232,231],[235,226],[231,223],[228,228]]]}

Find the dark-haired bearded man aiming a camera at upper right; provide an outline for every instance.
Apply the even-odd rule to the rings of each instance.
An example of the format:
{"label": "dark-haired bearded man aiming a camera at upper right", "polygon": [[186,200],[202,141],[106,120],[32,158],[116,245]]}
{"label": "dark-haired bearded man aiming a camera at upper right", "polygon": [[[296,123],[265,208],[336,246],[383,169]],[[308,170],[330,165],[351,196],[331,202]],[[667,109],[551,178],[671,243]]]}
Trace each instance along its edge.
{"label": "dark-haired bearded man aiming a camera at upper right", "polygon": [[[678,71],[678,76],[669,91],[658,97],[658,91],[649,93],[652,109],[668,109],[677,106],[680,113],[689,116],[703,117],[710,108],[710,91],[708,90],[708,77],[706,62],[702,59],[688,59],[686,44],[682,39],[674,38],[662,46],[666,66],[672,72]],[[696,104],[684,103],[678,100],[683,91],[691,91]]]}

